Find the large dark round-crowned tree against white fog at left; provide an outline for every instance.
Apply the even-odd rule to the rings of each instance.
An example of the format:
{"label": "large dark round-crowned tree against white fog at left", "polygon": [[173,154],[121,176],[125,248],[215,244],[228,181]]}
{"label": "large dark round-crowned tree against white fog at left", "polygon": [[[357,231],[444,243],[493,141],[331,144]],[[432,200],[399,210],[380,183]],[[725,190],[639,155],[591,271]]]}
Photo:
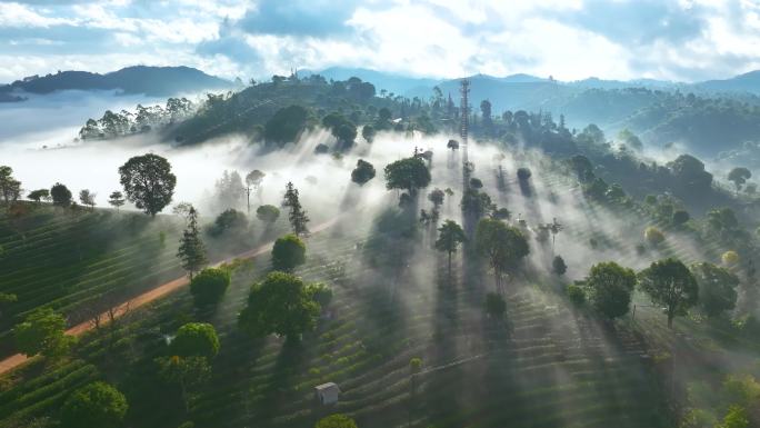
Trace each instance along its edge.
{"label": "large dark round-crowned tree against white fog at left", "polygon": [[130,158],[119,167],[127,198],[147,215],[156,217],[171,202],[177,177],[166,158],[148,153]]}

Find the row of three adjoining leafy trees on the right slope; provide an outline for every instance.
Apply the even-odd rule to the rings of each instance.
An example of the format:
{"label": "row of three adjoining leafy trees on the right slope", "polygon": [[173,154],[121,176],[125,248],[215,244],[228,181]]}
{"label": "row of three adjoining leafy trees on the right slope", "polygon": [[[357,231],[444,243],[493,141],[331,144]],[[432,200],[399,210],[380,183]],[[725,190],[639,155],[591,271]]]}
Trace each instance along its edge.
{"label": "row of three adjoining leafy trees on the right slope", "polygon": [[583,281],[569,286],[567,291],[576,303],[588,301],[596,311],[613,319],[628,313],[631,295],[638,287],[662,308],[668,327],[672,327],[677,316],[697,306],[709,317],[732,310],[738,285],[739,278],[726,268],[708,262],[688,267],[668,258],[638,273],[614,261],[600,262],[591,267]]}

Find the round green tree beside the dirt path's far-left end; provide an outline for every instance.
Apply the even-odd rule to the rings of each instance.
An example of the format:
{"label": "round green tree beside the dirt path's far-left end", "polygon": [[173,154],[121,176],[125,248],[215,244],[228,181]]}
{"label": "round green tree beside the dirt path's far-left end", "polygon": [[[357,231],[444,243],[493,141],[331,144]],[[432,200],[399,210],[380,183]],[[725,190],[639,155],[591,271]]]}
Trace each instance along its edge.
{"label": "round green tree beside the dirt path's far-left end", "polygon": [[51,308],[31,311],[23,322],[16,326],[13,335],[19,351],[28,357],[42,354],[56,357],[64,354],[70,340],[66,336],[66,319]]}

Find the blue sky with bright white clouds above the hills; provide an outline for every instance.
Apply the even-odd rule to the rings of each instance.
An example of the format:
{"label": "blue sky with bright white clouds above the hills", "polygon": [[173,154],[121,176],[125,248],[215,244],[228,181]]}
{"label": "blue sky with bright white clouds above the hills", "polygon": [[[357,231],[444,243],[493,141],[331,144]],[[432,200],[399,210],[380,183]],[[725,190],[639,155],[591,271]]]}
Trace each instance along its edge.
{"label": "blue sky with bright white clouds above the hills", "polygon": [[694,81],[760,69],[760,2],[0,0],[0,82],[131,64]]}

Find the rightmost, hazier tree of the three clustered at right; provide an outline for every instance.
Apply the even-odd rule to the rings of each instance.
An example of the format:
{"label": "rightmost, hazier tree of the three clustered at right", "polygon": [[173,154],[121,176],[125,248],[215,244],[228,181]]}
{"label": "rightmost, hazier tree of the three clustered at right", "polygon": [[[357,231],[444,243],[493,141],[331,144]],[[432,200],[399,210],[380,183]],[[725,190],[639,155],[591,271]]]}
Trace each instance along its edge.
{"label": "rightmost, hazier tree of the three clustered at right", "polygon": [[708,317],[718,317],[737,306],[739,277],[712,263],[693,263],[691,273],[699,287],[699,306]]}

